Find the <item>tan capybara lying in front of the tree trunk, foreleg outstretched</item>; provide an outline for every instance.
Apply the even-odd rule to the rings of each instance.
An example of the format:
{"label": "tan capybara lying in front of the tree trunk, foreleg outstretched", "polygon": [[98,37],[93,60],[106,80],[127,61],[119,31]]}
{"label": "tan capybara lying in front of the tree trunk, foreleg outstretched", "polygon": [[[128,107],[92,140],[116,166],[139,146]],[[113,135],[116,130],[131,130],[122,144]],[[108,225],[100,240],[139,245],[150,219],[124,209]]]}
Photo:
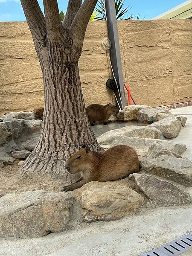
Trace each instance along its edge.
{"label": "tan capybara lying in front of the tree trunk, foreleg outstretched", "polygon": [[66,163],[70,174],[81,173],[75,183],[64,186],[61,191],[78,189],[90,181],[111,181],[139,172],[139,159],[134,148],[118,145],[103,153],[82,146]]}

